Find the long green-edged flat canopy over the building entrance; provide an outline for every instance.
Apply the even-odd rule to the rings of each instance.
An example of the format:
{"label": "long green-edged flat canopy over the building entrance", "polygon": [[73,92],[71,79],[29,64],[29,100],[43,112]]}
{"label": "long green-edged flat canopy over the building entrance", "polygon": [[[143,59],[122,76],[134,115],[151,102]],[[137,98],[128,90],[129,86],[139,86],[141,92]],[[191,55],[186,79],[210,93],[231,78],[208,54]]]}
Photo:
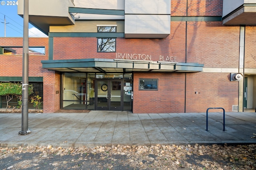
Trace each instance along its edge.
{"label": "long green-edged flat canopy over the building entrance", "polygon": [[125,59],[44,60],[42,68],[58,72],[201,72],[204,64]]}

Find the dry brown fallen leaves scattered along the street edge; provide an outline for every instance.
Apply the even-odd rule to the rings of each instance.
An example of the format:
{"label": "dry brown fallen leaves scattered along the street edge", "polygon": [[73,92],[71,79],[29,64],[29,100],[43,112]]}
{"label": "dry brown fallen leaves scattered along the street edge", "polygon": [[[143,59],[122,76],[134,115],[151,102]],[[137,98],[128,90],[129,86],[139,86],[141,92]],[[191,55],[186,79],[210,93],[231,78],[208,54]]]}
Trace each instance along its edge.
{"label": "dry brown fallen leaves scattered along the street edge", "polygon": [[[67,167],[85,169],[90,166],[112,169],[115,166],[130,166],[134,169],[207,169],[256,170],[256,145],[155,145],[112,147],[62,148],[48,146],[0,148],[1,160],[12,157],[17,163],[5,166],[5,169],[37,169],[46,160],[52,160],[48,166],[53,169]],[[38,153],[36,158],[23,159],[24,153]],[[55,161],[55,158],[69,158]],[[72,165],[71,165],[72,164]],[[76,166],[74,166],[76,164]],[[1,166],[0,166],[1,168]],[[4,168],[2,168],[4,169]],[[93,168],[92,168],[93,169]]]}

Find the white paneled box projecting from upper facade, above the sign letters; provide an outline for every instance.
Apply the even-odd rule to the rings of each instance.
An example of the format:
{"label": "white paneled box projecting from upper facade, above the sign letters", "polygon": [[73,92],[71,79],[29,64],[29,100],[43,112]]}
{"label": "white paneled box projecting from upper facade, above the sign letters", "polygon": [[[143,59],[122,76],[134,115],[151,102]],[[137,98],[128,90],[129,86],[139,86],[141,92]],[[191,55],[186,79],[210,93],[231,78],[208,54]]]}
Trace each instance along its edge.
{"label": "white paneled box projecting from upper facade, above the sign letters", "polygon": [[159,34],[161,38],[160,34],[170,34],[170,8],[170,0],[125,0],[126,37]]}

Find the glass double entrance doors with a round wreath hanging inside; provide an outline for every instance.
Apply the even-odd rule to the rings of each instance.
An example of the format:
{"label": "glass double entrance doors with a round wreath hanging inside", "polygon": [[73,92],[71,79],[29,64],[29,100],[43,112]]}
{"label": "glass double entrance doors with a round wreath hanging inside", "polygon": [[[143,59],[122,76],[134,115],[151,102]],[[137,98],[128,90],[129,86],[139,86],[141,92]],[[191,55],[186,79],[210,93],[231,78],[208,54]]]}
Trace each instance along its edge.
{"label": "glass double entrance doors with a round wreath hanging inside", "polygon": [[121,110],[122,109],[122,81],[97,80],[96,109]]}

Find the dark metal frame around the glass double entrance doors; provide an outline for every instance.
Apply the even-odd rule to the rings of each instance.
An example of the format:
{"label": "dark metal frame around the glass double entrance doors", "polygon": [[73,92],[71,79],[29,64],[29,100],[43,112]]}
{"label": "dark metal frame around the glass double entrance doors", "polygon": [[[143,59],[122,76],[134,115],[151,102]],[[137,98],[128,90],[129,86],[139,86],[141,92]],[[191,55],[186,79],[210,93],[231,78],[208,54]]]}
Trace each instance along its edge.
{"label": "dark metal frame around the glass double entrance doors", "polygon": [[[112,82],[121,82],[121,89],[120,89],[120,109],[113,109],[113,107],[111,107],[111,98],[107,98],[106,96],[106,100],[107,100],[107,107],[106,109],[103,107],[98,107],[98,82],[99,81],[106,81],[108,84],[108,90],[107,90],[107,96],[110,96],[109,94],[111,94],[111,89],[112,89]],[[123,89],[124,89],[124,80],[123,79],[102,79],[102,78],[97,78],[95,81],[95,110],[116,110],[116,111],[123,111],[124,110],[124,95],[123,95]],[[103,108],[103,109],[102,109]]]}

